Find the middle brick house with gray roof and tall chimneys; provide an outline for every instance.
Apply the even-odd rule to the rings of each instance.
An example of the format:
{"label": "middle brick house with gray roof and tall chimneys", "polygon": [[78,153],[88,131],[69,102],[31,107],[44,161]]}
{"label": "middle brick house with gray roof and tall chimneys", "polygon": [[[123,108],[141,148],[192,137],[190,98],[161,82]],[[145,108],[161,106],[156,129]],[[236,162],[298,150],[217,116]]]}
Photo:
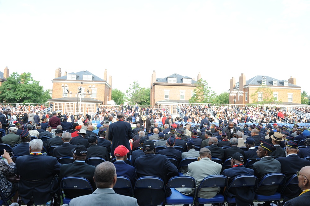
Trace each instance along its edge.
{"label": "middle brick house with gray roof and tall chimneys", "polygon": [[[201,79],[200,72],[197,76],[197,80],[199,79]],[[150,104],[168,108],[173,114],[177,113],[174,108],[176,103],[189,103],[188,100],[196,88],[195,83],[195,79],[177,73],[165,78],[156,78],[156,72],[153,71]]]}

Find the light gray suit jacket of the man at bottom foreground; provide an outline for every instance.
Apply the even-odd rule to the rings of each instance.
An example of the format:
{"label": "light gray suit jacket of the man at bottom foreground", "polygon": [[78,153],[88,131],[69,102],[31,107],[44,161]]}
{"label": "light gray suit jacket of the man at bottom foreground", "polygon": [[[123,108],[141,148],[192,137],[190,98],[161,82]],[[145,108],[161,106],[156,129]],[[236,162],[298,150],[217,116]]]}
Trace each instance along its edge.
{"label": "light gray suit jacket of the man at bottom foreground", "polygon": [[137,199],[118,195],[111,188],[98,188],[90,195],[73,198],[69,206],[109,205],[109,206],[138,206]]}

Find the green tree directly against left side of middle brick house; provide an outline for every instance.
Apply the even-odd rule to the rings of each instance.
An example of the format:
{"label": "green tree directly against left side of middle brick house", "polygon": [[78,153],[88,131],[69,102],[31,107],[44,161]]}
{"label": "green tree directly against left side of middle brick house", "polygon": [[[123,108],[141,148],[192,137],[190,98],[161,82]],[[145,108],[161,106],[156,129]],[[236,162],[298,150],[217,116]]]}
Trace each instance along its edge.
{"label": "green tree directly against left side of middle brick house", "polygon": [[140,87],[138,81],[134,81],[133,84],[129,85],[128,90],[126,90],[127,100],[132,105],[135,103],[139,105],[150,105],[150,92],[150,88]]}

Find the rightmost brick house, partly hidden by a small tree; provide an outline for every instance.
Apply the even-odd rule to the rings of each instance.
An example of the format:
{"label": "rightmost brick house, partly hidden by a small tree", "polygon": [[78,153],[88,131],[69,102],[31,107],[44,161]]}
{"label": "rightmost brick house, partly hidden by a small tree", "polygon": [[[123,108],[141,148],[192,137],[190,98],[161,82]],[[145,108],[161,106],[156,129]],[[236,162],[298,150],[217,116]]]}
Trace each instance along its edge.
{"label": "rightmost brick house, partly hidden by a small tree", "polygon": [[250,104],[262,99],[262,94],[257,95],[257,99],[252,99],[253,94],[261,86],[270,88],[273,91],[273,97],[282,104],[300,104],[301,103],[301,87],[296,85],[296,78],[292,76],[288,80],[278,80],[268,76],[255,76],[246,80],[244,73],[239,77],[236,83],[234,77],[230,80],[230,91],[243,91],[242,95],[229,96],[229,104]]}

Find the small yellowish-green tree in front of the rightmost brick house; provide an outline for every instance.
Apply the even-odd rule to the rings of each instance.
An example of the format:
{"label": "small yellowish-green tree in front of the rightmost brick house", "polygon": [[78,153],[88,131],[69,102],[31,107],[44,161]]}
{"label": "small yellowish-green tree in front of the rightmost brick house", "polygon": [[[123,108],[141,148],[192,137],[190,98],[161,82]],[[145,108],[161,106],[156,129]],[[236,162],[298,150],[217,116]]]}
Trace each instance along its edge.
{"label": "small yellowish-green tree in front of the rightmost brick house", "polygon": [[251,94],[252,104],[278,104],[281,100],[277,100],[273,96],[273,91],[267,86],[261,85],[257,90]]}

